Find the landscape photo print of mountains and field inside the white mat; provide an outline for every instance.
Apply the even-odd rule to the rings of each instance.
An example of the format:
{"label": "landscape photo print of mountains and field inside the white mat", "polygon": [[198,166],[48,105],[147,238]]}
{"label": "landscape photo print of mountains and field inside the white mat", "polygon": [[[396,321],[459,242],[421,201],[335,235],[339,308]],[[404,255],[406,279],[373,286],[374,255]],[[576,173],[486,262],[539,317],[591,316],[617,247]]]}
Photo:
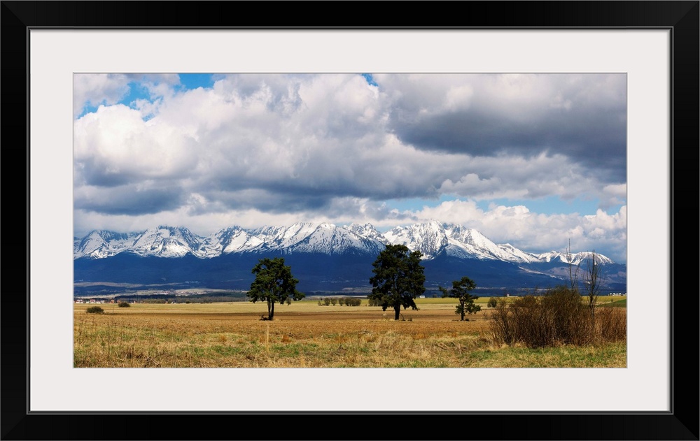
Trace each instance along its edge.
{"label": "landscape photo print of mountains and field inside the white mat", "polygon": [[74,368],[625,368],[626,74],[76,73]]}

